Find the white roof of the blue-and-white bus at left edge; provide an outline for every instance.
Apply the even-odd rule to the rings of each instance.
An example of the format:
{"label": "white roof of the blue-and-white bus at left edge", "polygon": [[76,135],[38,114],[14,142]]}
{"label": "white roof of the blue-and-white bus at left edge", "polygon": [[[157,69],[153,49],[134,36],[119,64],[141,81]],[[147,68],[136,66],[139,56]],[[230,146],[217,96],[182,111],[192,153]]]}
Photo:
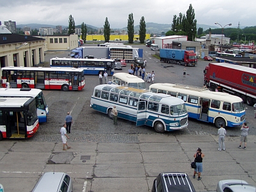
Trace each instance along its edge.
{"label": "white roof of the blue-and-white bus at left edge", "polygon": [[35,97],[41,90],[37,88],[0,88],[0,97]]}

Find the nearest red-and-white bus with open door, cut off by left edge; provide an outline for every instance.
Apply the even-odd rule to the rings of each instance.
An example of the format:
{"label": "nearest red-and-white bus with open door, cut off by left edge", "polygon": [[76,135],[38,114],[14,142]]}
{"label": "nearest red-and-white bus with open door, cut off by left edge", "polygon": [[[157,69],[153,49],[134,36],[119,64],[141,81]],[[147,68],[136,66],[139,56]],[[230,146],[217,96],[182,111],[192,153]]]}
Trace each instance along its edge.
{"label": "nearest red-and-white bus with open door, cut off by left edge", "polygon": [[0,98],[0,140],[32,137],[38,127],[35,98]]}

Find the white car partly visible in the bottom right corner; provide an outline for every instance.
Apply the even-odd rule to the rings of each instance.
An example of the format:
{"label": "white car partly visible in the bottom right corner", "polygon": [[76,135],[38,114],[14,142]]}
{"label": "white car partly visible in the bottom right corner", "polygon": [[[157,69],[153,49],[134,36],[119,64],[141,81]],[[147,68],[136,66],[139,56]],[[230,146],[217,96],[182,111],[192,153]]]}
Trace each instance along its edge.
{"label": "white car partly visible in the bottom right corner", "polygon": [[217,185],[217,192],[255,192],[256,187],[249,185],[245,180],[220,180]]}

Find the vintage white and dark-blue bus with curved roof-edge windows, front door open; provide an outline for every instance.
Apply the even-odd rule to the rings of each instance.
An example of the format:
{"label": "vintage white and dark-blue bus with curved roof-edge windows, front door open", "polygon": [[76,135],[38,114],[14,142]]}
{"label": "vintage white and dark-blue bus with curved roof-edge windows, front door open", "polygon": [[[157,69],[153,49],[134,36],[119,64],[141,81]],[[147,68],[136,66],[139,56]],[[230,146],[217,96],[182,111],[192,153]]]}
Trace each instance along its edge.
{"label": "vintage white and dark-blue bus with curved roof-edge windows, front door open", "polygon": [[133,121],[136,126],[151,126],[158,133],[188,126],[188,113],[182,99],[119,85],[98,85],[91,96],[91,107],[113,118],[116,105],[118,117]]}

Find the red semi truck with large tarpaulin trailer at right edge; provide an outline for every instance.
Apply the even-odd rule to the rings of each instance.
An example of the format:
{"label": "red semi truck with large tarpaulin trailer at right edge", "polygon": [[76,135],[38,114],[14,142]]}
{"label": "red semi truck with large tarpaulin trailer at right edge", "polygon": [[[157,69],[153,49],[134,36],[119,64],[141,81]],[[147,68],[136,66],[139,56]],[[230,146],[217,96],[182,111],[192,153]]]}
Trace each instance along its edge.
{"label": "red semi truck with large tarpaulin trailer at right edge", "polygon": [[234,94],[247,105],[256,102],[256,69],[230,63],[209,63],[204,69],[207,87]]}

